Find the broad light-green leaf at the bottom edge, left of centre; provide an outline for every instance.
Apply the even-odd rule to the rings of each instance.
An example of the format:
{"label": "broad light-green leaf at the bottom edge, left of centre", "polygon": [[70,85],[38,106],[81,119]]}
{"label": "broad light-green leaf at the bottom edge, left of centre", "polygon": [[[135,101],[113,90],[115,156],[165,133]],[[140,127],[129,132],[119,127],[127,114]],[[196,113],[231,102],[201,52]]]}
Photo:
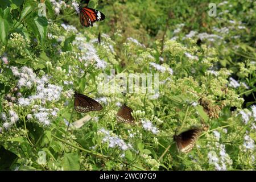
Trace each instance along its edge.
{"label": "broad light-green leaf at the bottom edge, left of centre", "polygon": [[79,156],[75,153],[66,153],[62,161],[62,166],[67,171],[78,171],[80,169]]}

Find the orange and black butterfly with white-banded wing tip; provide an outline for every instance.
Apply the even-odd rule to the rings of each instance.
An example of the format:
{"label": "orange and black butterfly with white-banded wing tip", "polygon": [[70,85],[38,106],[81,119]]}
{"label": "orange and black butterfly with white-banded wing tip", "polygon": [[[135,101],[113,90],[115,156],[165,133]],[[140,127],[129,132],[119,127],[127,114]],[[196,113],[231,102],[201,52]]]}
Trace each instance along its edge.
{"label": "orange and black butterfly with white-banded wing tip", "polygon": [[[89,1],[87,2],[87,5],[88,3]],[[82,26],[92,27],[94,22],[102,21],[105,19],[105,15],[103,13],[98,10],[89,8],[87,5],[84,7],[80,5],[79,7],[79,17]]]}

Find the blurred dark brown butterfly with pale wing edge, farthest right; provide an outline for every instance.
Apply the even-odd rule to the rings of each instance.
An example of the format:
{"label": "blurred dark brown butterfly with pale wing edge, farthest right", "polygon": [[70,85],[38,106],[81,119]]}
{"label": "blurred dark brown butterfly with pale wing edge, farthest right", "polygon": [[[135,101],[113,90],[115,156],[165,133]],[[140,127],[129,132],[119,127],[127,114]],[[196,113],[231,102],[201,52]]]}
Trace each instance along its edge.
{"label": "blurred dark brown butterfly with pale wing edge, farthest right", "polygon": [[195,128],[174,135],[174,140],[179,151],[187,153],[195,146],[195,142],[201,133],[201,129]]}

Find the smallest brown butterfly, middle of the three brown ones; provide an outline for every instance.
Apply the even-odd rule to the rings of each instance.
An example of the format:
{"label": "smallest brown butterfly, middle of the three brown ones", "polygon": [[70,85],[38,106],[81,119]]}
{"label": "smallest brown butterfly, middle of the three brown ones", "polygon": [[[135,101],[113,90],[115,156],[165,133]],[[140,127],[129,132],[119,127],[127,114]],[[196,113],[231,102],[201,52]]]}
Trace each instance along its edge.
{"label": "smallest brown butterfly, middle of the three brown ones", "polygon": [[117,121],[122,123],[130,123],[133,124],[135,122],[134,117],[131,115],[133,109],[126,106],[125,104],[118,110],[117,113]]}

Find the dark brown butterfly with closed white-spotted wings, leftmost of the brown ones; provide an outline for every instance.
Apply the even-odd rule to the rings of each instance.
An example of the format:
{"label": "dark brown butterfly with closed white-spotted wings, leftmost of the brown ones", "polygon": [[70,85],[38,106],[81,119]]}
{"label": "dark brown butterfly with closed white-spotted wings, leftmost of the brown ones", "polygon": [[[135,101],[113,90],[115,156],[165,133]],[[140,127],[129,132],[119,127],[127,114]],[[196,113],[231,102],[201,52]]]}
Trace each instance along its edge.
{"label": "dark brown butterfly with closed white-spotted wings, leftmost of the brown ones", "polygon": [[102,109],[100,103],[83,94],[75,92],[74,109],[80,113],[87,113],[89,111],[98,111]]}

